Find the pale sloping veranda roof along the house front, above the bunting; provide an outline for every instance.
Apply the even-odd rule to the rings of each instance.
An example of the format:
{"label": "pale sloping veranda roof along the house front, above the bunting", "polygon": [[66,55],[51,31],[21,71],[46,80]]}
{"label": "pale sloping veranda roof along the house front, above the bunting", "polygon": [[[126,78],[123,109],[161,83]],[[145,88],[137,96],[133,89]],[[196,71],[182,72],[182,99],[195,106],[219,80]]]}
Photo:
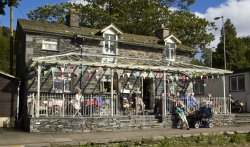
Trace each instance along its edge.
{"label": "pale sloping veranda roof along the house front, above the bunting", "polygon": [[213,74],[230,74],[232,71],[222,70],[217,68],[210,68],[205,66],[198,66],[187,64],[184,62],[156,60],[156,59],[142,59],[129,58],[120,56],[94,55],[94,54],[80,54],[80,53],[66,53],[61,55],[33,57],[33,66],[35,63],[39,64],[70,64],[70,65],[84,65],[92,67],[110,67],[121,69],[137,69],[137,70],[152,70],[152,71],[167,71],[167,72],[183,72],[183,73],[202,73],[203,75]]}

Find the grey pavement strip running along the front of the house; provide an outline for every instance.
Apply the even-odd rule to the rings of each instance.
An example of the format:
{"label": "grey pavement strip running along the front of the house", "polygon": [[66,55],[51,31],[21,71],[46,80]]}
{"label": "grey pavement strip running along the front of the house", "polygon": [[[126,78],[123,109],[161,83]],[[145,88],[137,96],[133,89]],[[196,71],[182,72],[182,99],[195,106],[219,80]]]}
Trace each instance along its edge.
{"label": "grey pavement strip running along the front of the house", "polygon": [[249,125],[191,128],[190,130],[150,128],[144,130],[88,133],[28,133],[17,129],[0,128],[0,147],[80,146],[88,142],[107,143],[126,140],[165,139],[168,137],[249,132]]}

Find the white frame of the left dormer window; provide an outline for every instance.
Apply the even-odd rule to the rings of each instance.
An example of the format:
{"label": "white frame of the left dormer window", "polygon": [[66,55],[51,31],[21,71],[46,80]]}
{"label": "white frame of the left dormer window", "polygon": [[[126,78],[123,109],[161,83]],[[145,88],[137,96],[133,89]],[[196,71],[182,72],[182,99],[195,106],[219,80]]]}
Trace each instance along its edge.
{"label": "white frame of the left dormer window", "polygon": [[[109,55],[116,55],[117,54],[117,41],[118,37],[115,33],[110,30],[107,30],[108,33],[103,34],[103,53]],[[108,40],[106,40],[106,35],[108,35]],[[111,36],[114,36],[115,40],[111,40]],[[106,42],[108,47],[106,47]],[[114,42],[114,51],[111,50],[111,43]]]}

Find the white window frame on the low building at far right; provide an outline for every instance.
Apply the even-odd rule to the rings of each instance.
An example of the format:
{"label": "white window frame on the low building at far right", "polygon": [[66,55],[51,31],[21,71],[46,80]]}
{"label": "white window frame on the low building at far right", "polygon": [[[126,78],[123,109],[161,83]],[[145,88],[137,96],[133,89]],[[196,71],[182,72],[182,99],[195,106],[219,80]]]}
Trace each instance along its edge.
{"label": "white window frame on the low building at far right", "polygon": [[[239,78],[243,78],[243,89],[239,89]],[[232,79],[236,79],[236,89],[232,89]],[[245,82],[245,75],[240,74],[240,75],[234,75],[234,76],[229,76],[229,91],[230,92],[240,92],[240,91],[245,91],[246,90],[246,82]]]}

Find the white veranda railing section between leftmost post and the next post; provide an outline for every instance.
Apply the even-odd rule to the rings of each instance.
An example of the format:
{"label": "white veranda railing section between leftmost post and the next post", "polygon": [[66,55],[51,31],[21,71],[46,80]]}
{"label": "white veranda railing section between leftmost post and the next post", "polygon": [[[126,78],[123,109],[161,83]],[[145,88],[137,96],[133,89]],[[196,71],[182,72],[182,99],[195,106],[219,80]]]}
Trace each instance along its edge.
{"label": "white veranda railing section between leftmost post and the next post", "polygon": [[[28,112],[32,117],[104,117],[111,116],[111,95],[83,95],[80,101],[73,94],[40,94],[39,101],[35,94],[28,96]],[[116,95],[113,110],[116,108]]]}

